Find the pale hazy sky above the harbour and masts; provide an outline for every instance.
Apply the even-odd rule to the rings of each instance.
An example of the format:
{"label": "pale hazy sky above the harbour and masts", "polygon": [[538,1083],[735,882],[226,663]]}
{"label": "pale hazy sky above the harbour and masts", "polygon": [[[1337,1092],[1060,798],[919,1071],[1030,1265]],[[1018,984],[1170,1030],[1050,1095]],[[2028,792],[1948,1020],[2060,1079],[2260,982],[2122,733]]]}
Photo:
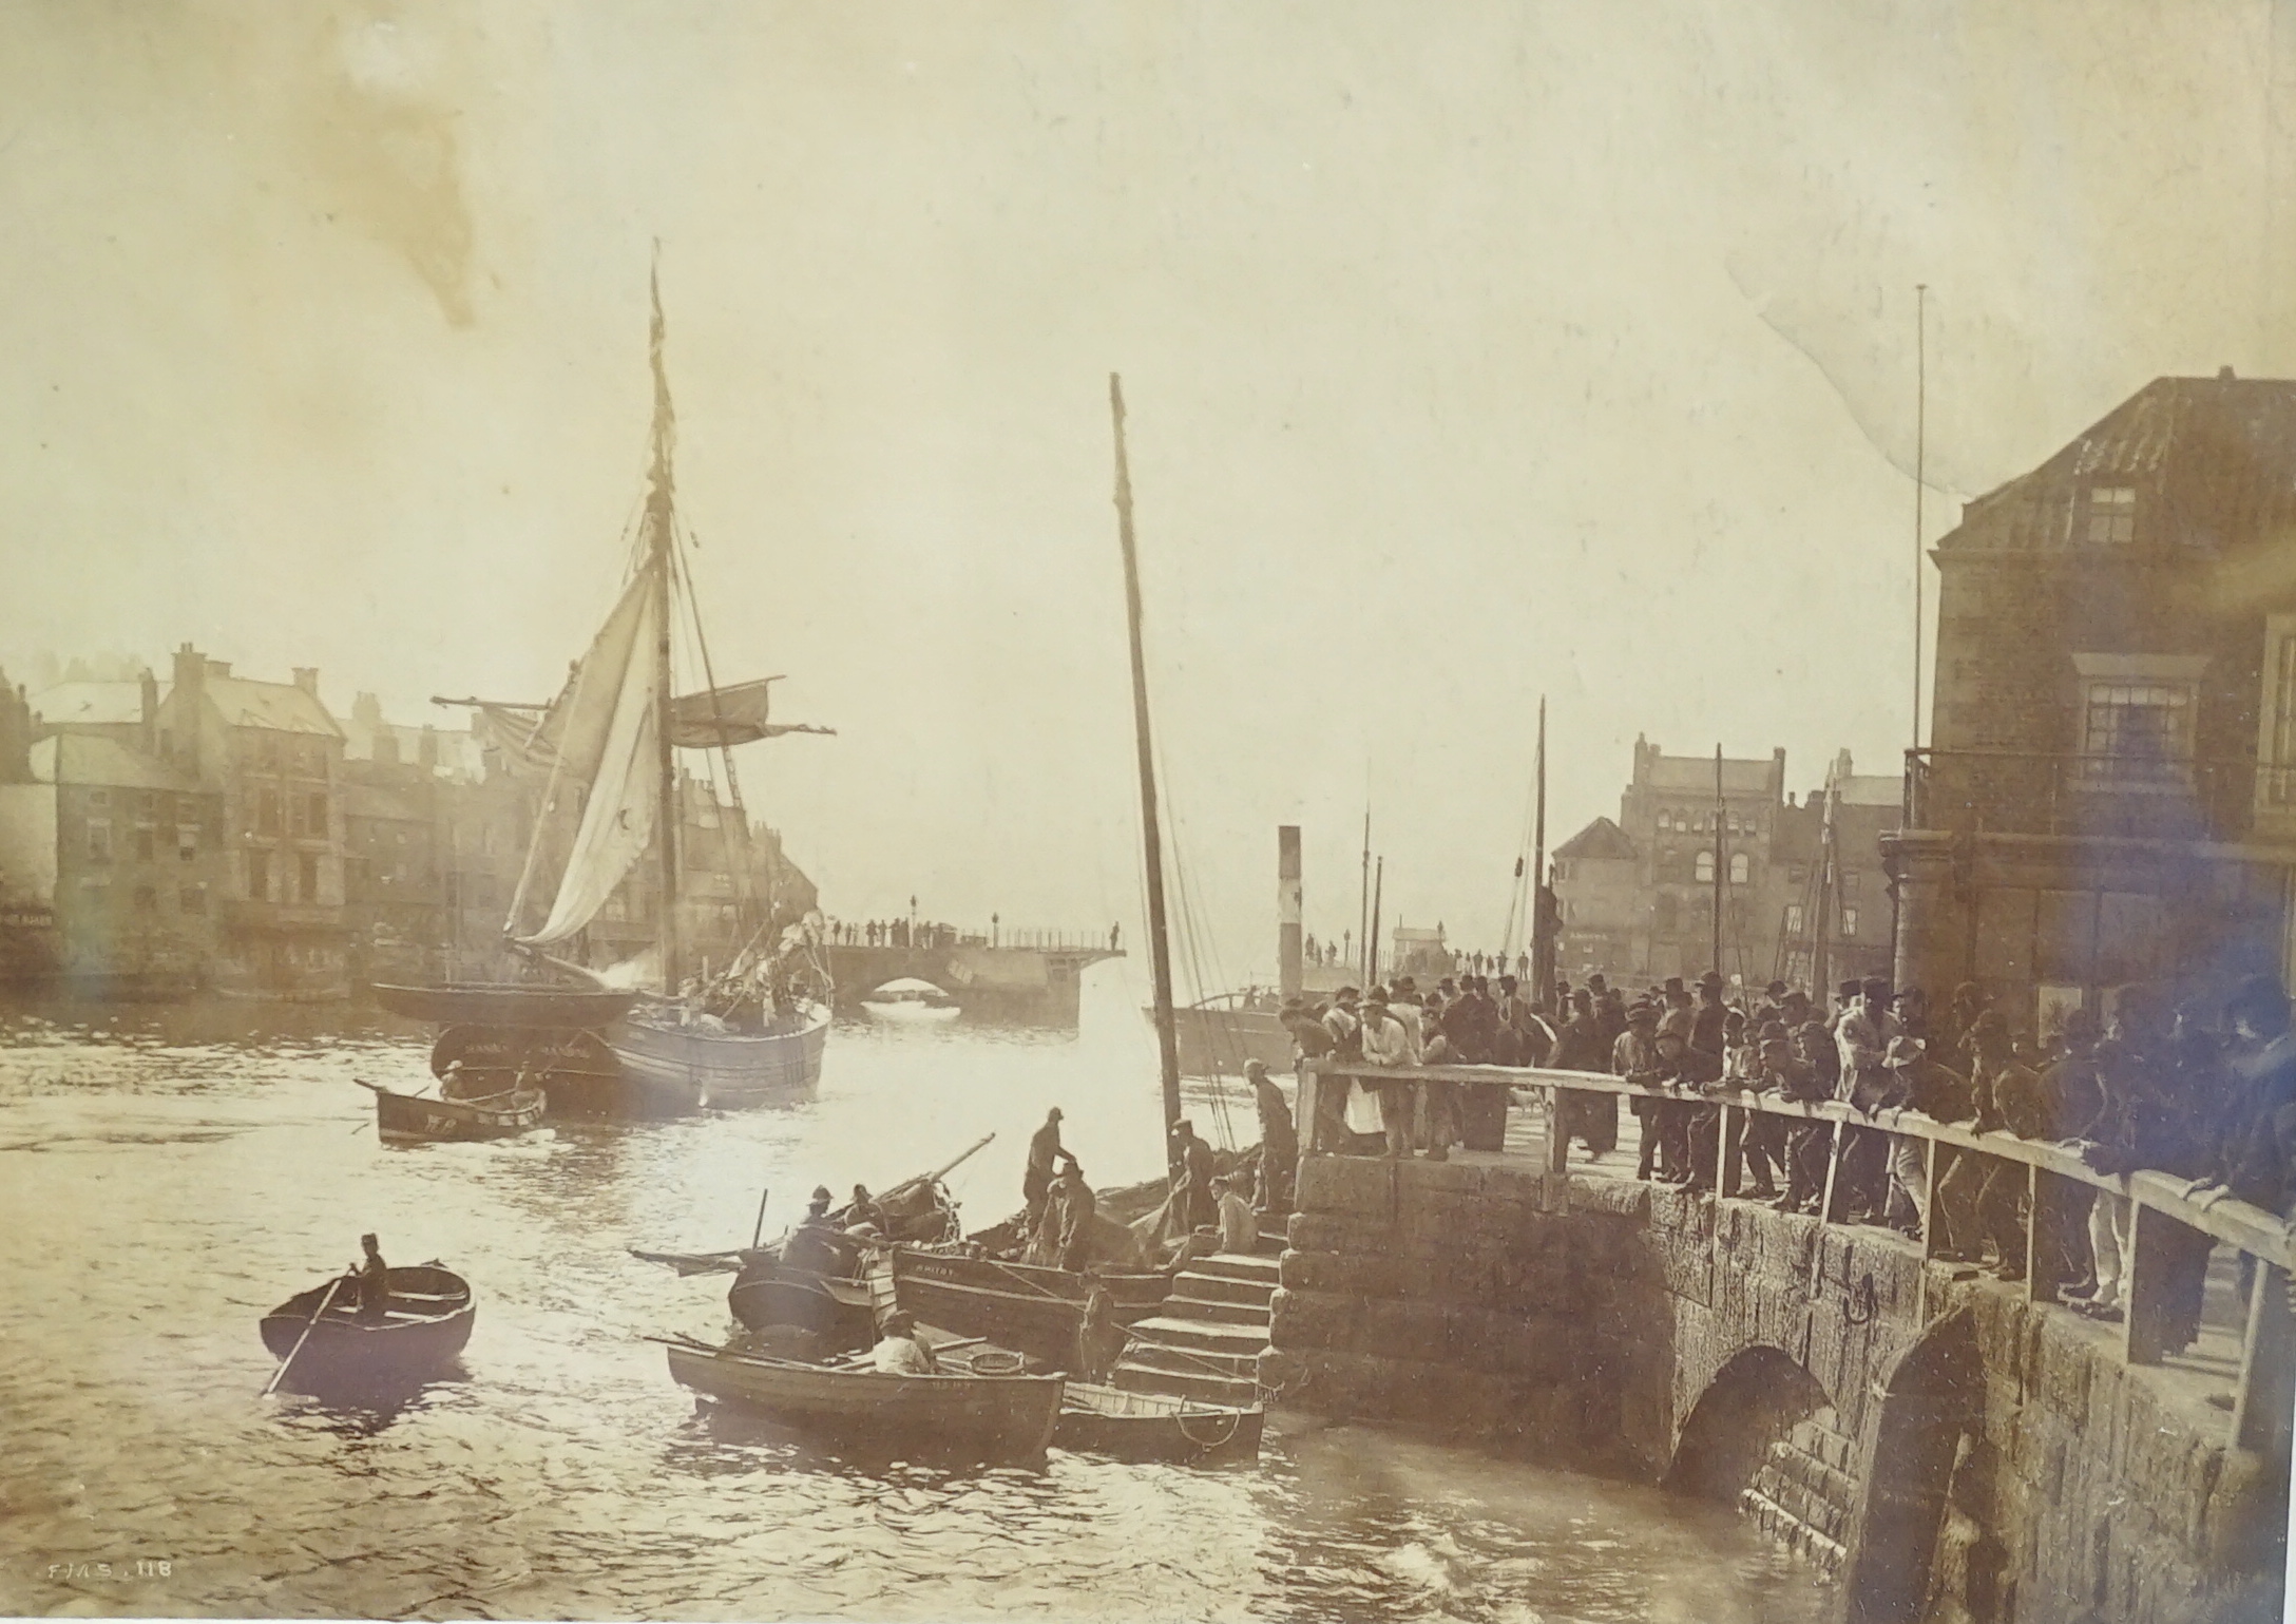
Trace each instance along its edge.
{"label": "pale hazy sky above the harbour and masts", "polygon": [[[2278,37],[2275,37],[2278,34]],[[1630,742],[1908,742],[1929,533],[2291,368],[2268,0],[0,0],[0,662],[546,696],[622,567],[654,239],[721,678],[831,912],[1132,919],[1120,370],[1231,969],[1495,939]],[[2287,122],[2289,113],[2282,113]],[[2282,289],[2282,292],[2273,292]],[[1933,602],[1933,574],[1931,574]]]}

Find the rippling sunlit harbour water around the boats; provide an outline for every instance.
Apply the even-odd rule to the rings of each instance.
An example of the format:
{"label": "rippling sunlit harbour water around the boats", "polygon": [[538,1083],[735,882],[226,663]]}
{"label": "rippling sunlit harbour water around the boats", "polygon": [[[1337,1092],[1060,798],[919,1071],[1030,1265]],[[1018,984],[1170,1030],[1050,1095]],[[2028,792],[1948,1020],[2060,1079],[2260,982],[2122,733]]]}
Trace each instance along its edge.
{"label": "rippling sunlit harbour water around the boats", "polygon": [[[427,1036],[315,1006],[0,1011],[0,1613],[1816,1622],[1832,1594],[1729,1511],[1474,1447],[1279,1417],[1258,1468],[836,1459],[714,1415],[645,1332],[714,1337],[723,1277],[627,1247],[748,1240],[827,1183],[923,1171],[1017,1204],[1061,1105],[1102,1185],[1157,1171],[1127,965],[1081,1034],[840,1024],[820,1098],[383,1149],[354,1077]],[[1249,1103],[1189,1103],[1249,1139]],[[370,1126],[360,1126],[370,1123]],[[257,1316],[443,1259],[464,1378],[390,1410],[259,1399]]]}

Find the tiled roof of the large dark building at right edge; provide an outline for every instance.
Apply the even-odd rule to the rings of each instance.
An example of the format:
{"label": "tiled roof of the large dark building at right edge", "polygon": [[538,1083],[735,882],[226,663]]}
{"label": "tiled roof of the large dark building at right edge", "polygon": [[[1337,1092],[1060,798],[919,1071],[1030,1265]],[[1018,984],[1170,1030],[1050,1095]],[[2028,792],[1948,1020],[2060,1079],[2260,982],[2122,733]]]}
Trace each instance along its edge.
{"label": "tiled roof of the large dark building at right edge", "polygon": [[2138,492],[2140,544],[2218,547],[2296,521],[2296,381],[2154,379],[2032,473],[1968,503],[1938,549],[2082,547],[2101,485]]}

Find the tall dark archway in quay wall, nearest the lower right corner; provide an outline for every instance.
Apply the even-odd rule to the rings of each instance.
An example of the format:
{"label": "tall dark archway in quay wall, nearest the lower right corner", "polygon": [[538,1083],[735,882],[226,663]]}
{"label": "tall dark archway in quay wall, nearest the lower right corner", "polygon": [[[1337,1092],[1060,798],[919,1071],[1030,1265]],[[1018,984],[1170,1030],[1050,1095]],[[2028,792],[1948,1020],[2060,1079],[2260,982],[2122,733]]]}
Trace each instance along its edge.
{"label": "tall dark archway in quay wall, nearest the lower right corner", "polygon": [[1977,1433],[1984,1415],[1984,1358],[1970,1312],[1924,1330],[1876,1392],[1880,1413],[1844,1590],[1851,1624],[1906,1624],[1929,1608],[1954,1461],[1963,1433]]}

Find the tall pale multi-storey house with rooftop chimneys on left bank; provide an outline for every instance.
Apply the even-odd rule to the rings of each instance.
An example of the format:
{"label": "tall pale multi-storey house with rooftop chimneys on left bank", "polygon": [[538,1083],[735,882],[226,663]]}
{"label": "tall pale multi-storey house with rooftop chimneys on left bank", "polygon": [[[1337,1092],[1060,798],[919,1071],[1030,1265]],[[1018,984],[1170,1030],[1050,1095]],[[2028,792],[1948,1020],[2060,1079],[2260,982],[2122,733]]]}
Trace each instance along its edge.
{"label": "tall pale multi-storey house with rooftop chimneys on left bank", "polygon": [[264,997],[349,992],[342,728],[319,673],[259,682],[191,643],[156,705],[156,753],[223,795],[227,861],[216,985]]}

